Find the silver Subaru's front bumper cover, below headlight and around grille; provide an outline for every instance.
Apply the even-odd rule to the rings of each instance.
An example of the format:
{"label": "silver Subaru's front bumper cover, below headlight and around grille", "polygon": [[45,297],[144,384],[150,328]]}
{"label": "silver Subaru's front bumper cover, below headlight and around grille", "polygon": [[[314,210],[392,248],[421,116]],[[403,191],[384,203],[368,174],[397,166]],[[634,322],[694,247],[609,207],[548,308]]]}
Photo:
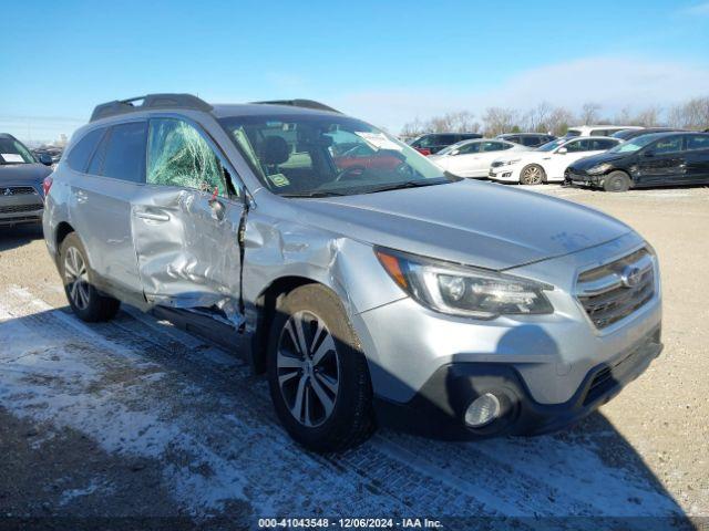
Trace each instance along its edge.
{"label": "silver Subaru's front bumper cover, below headlight and around grille", "polygon": [[[548,315],[481,321],[443,315],[410,298],[357,314],[353,324],[367,355],[382,417],[388,417],[388,409],[400,409],[394,416],[401,418],[409,409],[422,409],[413,414],[414,420],[421,419],[441,409],[425,405],[441,402],[431,396],[459,393],[452,393],[450,385],[463,389],[464,403],[487,381],[508,388],[515,404],[525,405],[515,421],[521,431],[525,425],[549,425],[553,429],[555,424],[568,424],[593,410],[621,387],[623,378],[614,375],[621,385],[609,389],[600,402],[586,402],[580,407],[577,399],[585,385],[597,371],[614,366],[625,353],[655,337],[661,324],[661,287],[657,259],[653,258],[653,298],[621,320],[598,329],[574,294],[577,275],[644,246],[644,240],[630,231],[599,246],[508,270],[554,287],[547,298],[555,312]],[[654,342],[659,345],[659,336]],[[659,347],[654,355],[658,352]],[[645,368],[643,364],[631,365],[639,372]],[[470,377],[461,379],[461,371]],[[624,378],[627,379],[625,375]],[[452,384],[458,381],[463,383]],[[469,405],[470,402],[465,407]],[[463,426],[459,406],[448,410],[455,413],[460,429]],[[547,421],[546,417],[553,420]]]}

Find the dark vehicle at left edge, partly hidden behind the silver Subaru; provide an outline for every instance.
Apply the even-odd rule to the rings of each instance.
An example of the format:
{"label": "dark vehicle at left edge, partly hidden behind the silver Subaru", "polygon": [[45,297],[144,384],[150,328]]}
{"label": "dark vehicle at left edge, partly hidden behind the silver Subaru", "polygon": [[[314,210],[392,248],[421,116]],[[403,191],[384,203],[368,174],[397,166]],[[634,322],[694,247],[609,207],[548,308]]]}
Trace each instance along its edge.
{"label": "dark vehicle at left edge, partly hidden behind the silver Subaru", "polygon": [[[49,157],[42,164],[51,165]],[[42,221],[43,179],[52,173],[14,136],[0,133],[0,227]]]}

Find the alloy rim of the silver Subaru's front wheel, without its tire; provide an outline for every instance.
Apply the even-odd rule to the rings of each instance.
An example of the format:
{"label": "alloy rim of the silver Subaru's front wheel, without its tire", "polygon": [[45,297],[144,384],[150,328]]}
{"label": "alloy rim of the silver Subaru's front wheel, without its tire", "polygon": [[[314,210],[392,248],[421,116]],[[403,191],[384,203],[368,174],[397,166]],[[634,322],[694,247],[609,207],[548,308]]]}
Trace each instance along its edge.
{"label": "alloy rim of the silver Subaru's front wheel, without its tire", "polygon": [[340,384],[335,339],[311,312],[297,312],[278,340],[278,387],[292,417],[312,428],[332,414]]}

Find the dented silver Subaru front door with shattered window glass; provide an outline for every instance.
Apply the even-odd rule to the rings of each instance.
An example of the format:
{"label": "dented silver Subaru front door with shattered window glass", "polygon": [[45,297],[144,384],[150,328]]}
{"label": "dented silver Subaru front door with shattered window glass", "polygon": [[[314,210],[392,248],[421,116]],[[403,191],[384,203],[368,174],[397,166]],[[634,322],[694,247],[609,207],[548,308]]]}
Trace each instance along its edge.
{"label": "dented silver Subaru front door with shattered window glass", "polygon": [[238,230],[220,157],[196,125],[150,122],[146,184],[132,204],[133,238],[148,302],[217,309],[240,322]]}

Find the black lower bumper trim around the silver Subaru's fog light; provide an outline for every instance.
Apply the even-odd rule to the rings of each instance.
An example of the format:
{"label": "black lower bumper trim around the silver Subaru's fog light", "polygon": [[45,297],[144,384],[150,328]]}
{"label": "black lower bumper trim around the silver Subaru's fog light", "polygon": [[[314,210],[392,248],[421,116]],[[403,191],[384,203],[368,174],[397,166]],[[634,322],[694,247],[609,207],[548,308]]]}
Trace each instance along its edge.
{"label": "black lower bumper trim around the silver Subaru's fog light", "polygon": [[[562,404],[536,402],[512,365],[453,363],[440,367],[405,404],[377,399],[376,412],[382,425],[442,439],[551,433],[610,400],[643,374],[661,350],[657,327],[627,351],[592,368],[576,393]],[[485,393],[506,398],[501,416],[481,428],[467,427],[467,406]]]}

